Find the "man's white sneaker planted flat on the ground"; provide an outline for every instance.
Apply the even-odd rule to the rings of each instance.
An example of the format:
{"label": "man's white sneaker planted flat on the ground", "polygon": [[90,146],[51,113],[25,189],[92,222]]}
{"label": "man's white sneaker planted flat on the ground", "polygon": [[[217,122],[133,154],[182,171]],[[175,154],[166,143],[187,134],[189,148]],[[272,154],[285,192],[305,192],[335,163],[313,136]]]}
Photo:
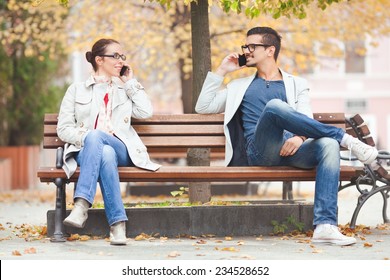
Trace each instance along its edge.
{"label": "man's white sneaker planted flat on the ground", "polygon": [[356,243],[354,237],[343,235],[337,226],[330,224],[317,225],[313,233],[313,243],[328,243],[335,245],[351,245]]}

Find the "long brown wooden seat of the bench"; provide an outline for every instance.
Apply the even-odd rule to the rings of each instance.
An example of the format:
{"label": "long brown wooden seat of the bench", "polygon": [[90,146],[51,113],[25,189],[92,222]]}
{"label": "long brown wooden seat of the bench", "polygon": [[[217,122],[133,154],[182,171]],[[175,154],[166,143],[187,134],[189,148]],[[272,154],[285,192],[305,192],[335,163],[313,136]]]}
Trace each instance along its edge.
{"label": "long brown wooden seat of the bench", "polygon": [[[245,181],[313,181],[316,171],[302,170],[286,166],[162,166],[152,172],[136,167],[119,167],[119,177],[122,182],[245,182]],[[78,179],[78,168],[70,182]],[[350,180],[359,174],[356,167],[342,166],[341,180]],[[53,178],[66,179],[62,169],[41,167],[38,170],[41,182],[52,182]]]}

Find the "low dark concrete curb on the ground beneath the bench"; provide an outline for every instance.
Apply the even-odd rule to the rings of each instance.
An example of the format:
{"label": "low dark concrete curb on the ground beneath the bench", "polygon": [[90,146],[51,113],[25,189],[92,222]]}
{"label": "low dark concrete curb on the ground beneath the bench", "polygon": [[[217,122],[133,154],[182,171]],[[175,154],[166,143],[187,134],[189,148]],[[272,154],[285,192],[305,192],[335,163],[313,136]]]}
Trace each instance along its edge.
{"label": "low dark concrete curb on the ground beneath the bench", "polygon": [[[66,211],[69,215],[70,210]],[[292,217],[303,223],[304,229],[312,229],[312,203],[259,203],[240,206],[190,206],[126,208],[128,222],[126,236],[141,233],[166,237],[178,236],[253,236],[273,232],[272,221],[285,223]],[[48,236],[54,233],[54,210],[47,212]],[[296,228],[288,225],[286,232]],[[109,225],[104,209],[90,209],[88,220],[82,229],[65,227],[67,234],[108,236]]]}

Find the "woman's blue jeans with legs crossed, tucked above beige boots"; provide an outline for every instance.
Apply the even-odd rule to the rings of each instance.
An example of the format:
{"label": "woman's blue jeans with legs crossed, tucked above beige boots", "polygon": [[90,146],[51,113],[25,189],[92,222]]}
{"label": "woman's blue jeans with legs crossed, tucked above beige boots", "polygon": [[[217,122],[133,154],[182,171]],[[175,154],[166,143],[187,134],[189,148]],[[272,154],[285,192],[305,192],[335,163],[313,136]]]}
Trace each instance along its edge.
{"label": "woman's blue jeans with legs crossed, tucked above beige boots", "polygon": [[115,136],[92,130],[75,158],[80,176],[74,198],[83,198],[92,204],[99,182],[108,224],[127,221],[118,174],[118,166],[133,165],[125,144]]}

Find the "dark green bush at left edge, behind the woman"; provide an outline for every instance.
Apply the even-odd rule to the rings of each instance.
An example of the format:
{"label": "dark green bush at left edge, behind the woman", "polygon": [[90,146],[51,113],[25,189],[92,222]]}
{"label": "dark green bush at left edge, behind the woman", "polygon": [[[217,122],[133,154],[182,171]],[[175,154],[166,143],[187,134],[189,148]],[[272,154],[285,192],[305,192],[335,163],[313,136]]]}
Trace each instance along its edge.
{"label": "dark green bush at left edge, behind the woman", "polygon": [[0,81],[8,87],[0,92],[2,125],[6,123],[0,132],[0,144],[38,145],[45,112],[58,111],[65,92],[65,87],[53,85],[59,62],[47,54],[40,58],[2,54],[2,65],[8,69],[1,67]]}

